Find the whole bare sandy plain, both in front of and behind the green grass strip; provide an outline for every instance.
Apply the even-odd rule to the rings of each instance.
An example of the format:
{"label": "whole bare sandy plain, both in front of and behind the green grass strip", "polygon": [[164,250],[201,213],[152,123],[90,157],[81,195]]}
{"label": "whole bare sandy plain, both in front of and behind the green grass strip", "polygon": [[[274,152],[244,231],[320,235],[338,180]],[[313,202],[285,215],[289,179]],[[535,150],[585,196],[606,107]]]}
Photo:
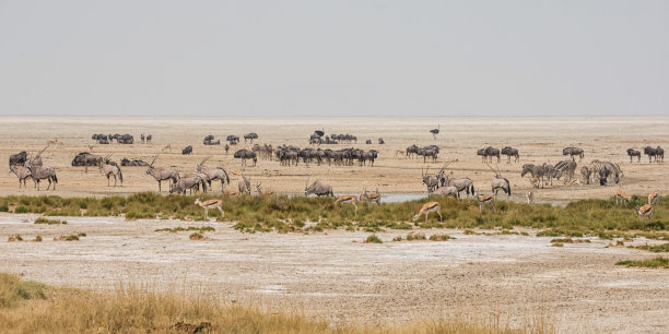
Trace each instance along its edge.
{"label": "whole bare sandy plain, both in front of and behind the green grass strip", "polygon": [[[433,139],[429,132],[439,127]],[[476,155],[478,148],[513,146],[520,162],[507,164],[503,156],[493,164],[512,184],[512,196],[497,201],[524,202],[531,190],[520,177],[523,164],[555,164],[562,148],[578,146],[587,165],[592,159],[610,160],[624,172],[618,186],[564,187],[562,181],[535,189],[535,201],[564,206],[571,201],[612,201],[617,190],[646,196],[653,191],[669,193],[669,170],[665,164],[630,163],[626,150],[667,146],[669,117],[660,118],[0,118],[0,156],[7,162],[20,151],[36,153],[47,141],[58,141],[42,157],[56,169],[55,191],[20,189],[13,174],[0,174],[0,196],[58,195],[104,198],[139,192],[157,192],[157,183],[145,167],[124,167],[122,187],[107,187],[97,168],[72,167],[80,152],[111,155],[111,159],[140,158],[155,166],[193,171],[207,165],[244,171],[251,183],[278,193],[303,194],[307,179],[332,186],[338,194],[356,194],[363,187],[378,189],[387,199],[426,195],[421,182],[423,168],[436,172],[451,160],[447,172],[469,177],[481,193],[490,193],[494,174]],[[223,145],[206,146],[212,134],[225,136],[256,132],[254,143],[309,147],[315,130],[350,133],[357,143],[322,145],[322,148],[357,147],[377,150],[372,166],[308,167],[281,166],[277,160],[258,159],[256,166],[240,166],[233,158],[240,141],[225,154]],[[129,133],[131,145],[99,145],[94,133]],[[152,134],[150,144],[139,143],[140,133]],[[385,144],[377,140],[383,138]],[[365,144],[372,140],[373,144]],[[435,164],[397,155],[411,144],[438,145]],[[171,145],[169,150],[163,147]],[[192,145],[192,155],[180,151]],[[578,158],[576,158],[578,162]],[[233,184],[237,177],[232,176]],[[163,184],[166,195],[167,184]],[[213,187],[214,191],[220,188]],[[214,192],[214,195],[216,193]],[[416,204],[419,206],[420,204]],[[472,207],[478,205],[472,202]],[[539,204],[537,204],[539,205]],[[418,208],[418,207],[416,207]],[[664,212],[656,214],[656,219]],[[364,212],[363,212],[364,214]],[[496,213],[484,213],[483,218]],[[410,232],[380,229],[383,243],[363,242],[369,232],[362,229],[326,229],[308,232],[240,232],[235,222],[184,222],[177,219],[132,219],[121,217],[63,217],[67,225],[35,225],[37,214],[0,214],[0,272],[21,275],[55,286],[113,290],[119,284],[148,285],[159,290],[207,291],[225,302],[250,302],[270,311],[295,311],[322,319],[332,326],[348,323],[401,324],[430,319],[466,319],[501,322],[512,329],[549,323],[560,333],[661,333],[669,331],[669,272],[665,269],[615,265],[621,260],[644,260],[656,253],[630,246],[661,244],[666,241],[636,237],[607,239],[583,236],[582,242],[553,247],[540,230],[514,227],[510,230],[419,228],[427,238],[448,235],[446,241],[392,241]],[[410,222],[411,216],[396,217]],[[432,218],[434,219],[434,218]],[[639,220],[632,207],[630,220]],[[190,240],[188,232],[161,232],[177,226],[211,226],[203,240]],[[664,229],[660,228],[660,229]],[[85,232],[75,242],[54,237]],[[661,232],[661,231],[660,231]],[[4,242],[11,235],[43,242]],[[620,242],[619,242],[620,241]],[[622,246],[624,244],[624,246]]]}

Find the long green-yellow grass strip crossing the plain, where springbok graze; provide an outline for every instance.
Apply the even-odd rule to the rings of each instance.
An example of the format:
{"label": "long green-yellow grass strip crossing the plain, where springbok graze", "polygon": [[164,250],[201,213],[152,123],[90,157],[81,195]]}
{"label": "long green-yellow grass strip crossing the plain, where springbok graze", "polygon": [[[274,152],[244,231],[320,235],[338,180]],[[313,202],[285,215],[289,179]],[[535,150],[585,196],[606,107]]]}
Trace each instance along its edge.
{"label": "long green-yellow grass strip crossing the plain, where springbok graze", "polygon": [[[411,218],[415,211],[427,201],[442,204],[444,222],[430,219],[419,228],[459,228],[510,230],[515,227],[543,229],[539,237],[583,237],[600,235],[612,237],[612,231],[635,231],[653,238],[669,240],[665,226],[669,226],[669,196],[660,199],[655,206],[654,224],[641,219],[630,207],[617,206],[611,200],[580,200],[565,207],[549,204],[530,205],[498,201],[495,213],[481,216],[476,200],[422,199],[402,203],[386,203],[382,207],[363,204],[355,215],[350,207],[334,205],[331,198],[277,196],[226,196],[206,194],[202,200],[222,199],[225,219],[236,222],[235,228],[245,232],[297,231],[302,232],[305,222],[317,222],[309,230],[349,228],[356,225],[359,230],[379,231],[387,228],[413,228]],[[642,201],[639,199],[638,201]],[[204,212],[193,204],[195,198],[184,195],[161,195],[153,192],[136,193],[128,196],[68,198],[4,196],[2,205],[14,212],[40,213],[45,216],[118,216],[127,219],[172,217],[175,219],[203,220]],[[218,211],[212,217],[221,218]],[[301,226],[302,225],[302,226]],[[658,232],[659,230],[659,232]]]}

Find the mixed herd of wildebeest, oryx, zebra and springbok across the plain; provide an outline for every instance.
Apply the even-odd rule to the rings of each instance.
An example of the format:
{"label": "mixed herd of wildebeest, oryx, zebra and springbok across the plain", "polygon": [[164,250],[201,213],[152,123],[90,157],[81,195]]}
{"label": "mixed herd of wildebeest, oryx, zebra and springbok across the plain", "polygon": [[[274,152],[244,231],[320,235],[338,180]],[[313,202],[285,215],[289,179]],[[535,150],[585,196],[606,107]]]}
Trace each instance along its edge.
{"label": "mixed herd of wildebeest, oryx, zebra and springbok across the plain", "polygon": [[[433,129],[430,131],[433,136],[436,139],[436,134],[438,134],[439,129]],[[116,140],[119,144],[132,144],[133,136],[130,134],[94,134],[92,136],[98,144],[109,144],[110,141]],[[152,135],[144,135],[143,133],[140,136],[141,143],[151,143]],[[253,144],[254,140],[258,139],[257,133],[247,133],[244,135],[244,140],[250,141]],[[226,138],[230,144],[235,145],[238,143],[239,138],[236,135],[228,135]],[[325,135],[324,131],[315,131],[314,134],[309,136],[309,144],[318,145],[320,144],[333,144],[333,143],[352,143],[356,142],[357,138],[351,134],[331,134]],[[367,141],[369,143],[371,141]],[[383,144],[383,139],[378,139],[378,143]],[[220,141],[214,141],[213,135],[208,135],[203,141],[204,145],[220,145]],[[47,146],[44,147],[40,152],[35,154],[34,156],[28,155],[25,151],[19,154],[11,155],[9,158],[10,171],[13,172],[19,178],[19,187],[22,186],[26,188],[26,180],[30,178],[34,181],[35,188],[39,190],[39,183],[42,180],[46,180],[49,182],[47,190],[51,189],[56,190],[56,184],[58,183],[58,178],[56,176],[56,170],[52,167],[45,167],[42,154],[52,145],[62,145],[62,142],[49,141]],[[92,147],[92,146],[90,146]],[[228,145],[225,145],[225,152],[228,151]],[[171,145],[167,145],[163,148],[172,148]],[[641,163],[642,151],[637,151],[634,148],[629,148],[627,156],[630,157],[630,162],[633,162],[633,158],[637,158],[637,163]],[[183,154],[191,154],[192,146],[187,146],[183,150]],[[643,150],[643,153],[648,156],[648,163],[664,163],[665,150],[660,146],[652,147],[646,146]],[[423,163],[427,163],[430,159],[432,163],[437,162],[437,157],[439,154],[439,147],[437,145],[427,145],[424,147],[419,147],[418,145],[411,145],[406,150],[397,150],[396,156],[401,154],[406,156],[406,158],[419,158],[423,157]],[[544,188],[549,183],[552,186],[553,180],[561,180],[565,187],[572,187],[574,184],[590,184],[590,183],[599,183],[600,186],[607,186],[610,182],[619,183],[623,177],[623,171],[620,166],[612,162],[602,162],[598,159],[594,159],[588,165],[583,165],[579,169],[580,177],[575,178],[576,169],[578,164],[576,163],[575,157],[578,157],[578,162],[584,158],[584,151],[579,147],[565,147],[562,152],[564,156],[570,156],[571,159],[564,159],[559,162],[555,165],[551,165],[544,163],[542,165],[535,164],[525,164],[521,167],[520,176],[528,178],[528,181],[531,183],[533,188]],[[501,162],[501,156],[507,156],[507,164],[519,163],[520,154],[517,148],[506,146],[502,150],[494,148],[492,146],[483,147],[477,151],[477,155],[481,156],[481,162],[485,164],[493,172],[494,177],[491,181],[491,192],[492,194],[480,194],[477,193],[473,182],[469,178],[453,178],[446,170],[448,166],[453,163],[453,160],[447,162],[441,170],[436,175],[429,175],[429,167],[426,170],[422,171],[422,182],[426,186],[427,192],[431,196],[454,196],[460,198],[461,192],[466,192],[466,195],[472,195],[479,202],[479,210],[482,212],[483,207],[490,207],[494,212],[494,201],[500,190],[510,196],[512,188],[510,182],[507,178],[503,177],[500,169],[493,168],[490,164],[493,163],[496,157],[496,163]],[[251,194],[251,184],[250,179],[244,176],[244,171],[231,171],[231,174],[238,176],[237,187],[233,189],[233,187],[225,187],[225,184],[230,184],[230,175],[223,167],[209,167],[204,164],[209,160],[210,157],[204,158],[200,164],[196,166],[196,170],[193,172],[179,172],[174,169],[154,167],[154,164],[160,156],[160,153],[153,158],[151,163],[145,163],[141,159],[128,159],[124,158],[121,160],[120,166],[110,159],[111,155],[99,156],[96,154],[82,152],[78,154],[73,160],[72,166],[96,166],[102,171],[103,175],[107,178],[107,186],[111,187],[110,178],[114,178],[114,187],[117,186],[117,182],[120,181],[121,187],[124,182],[124,176],[120,166],[145,166],[148,176],[151,176],[159,183],[159,191],[162,192],[162,182],[169,182],[169,193],[181,193],[185,194],[186,191],[190,191],[191,193],[195,191],[207,191],[208,188],[211,189],[212,181],[219,180],[221,182],[221,191],[228,195],[237,195],[237,194]],[[302,160],[307,167],[309,164],[328,164],[336,166],[353,166],[354,162],[357,160],[359,166],[365,166],[369,163],[369,166],[374,166],[374,160],[378,157],[378,152],[376,150],[364,151],[360,148],[341,148],[341,150],[321,150],[320,147],[306,147],[300,148],[295,146],[286,146],[281,145],[277,148],[273,148],[272,145],[263,144],[254,144],[251,150],[238,150],[234,153],[235,158],[242,159],[242,166],[246,166],[246,160],[253,160],[253,166],[256,166],[257,157],[260,156],[262,159],[269,160],[278,160],[282,166],[292,166],[298,165],[298,162]],[[275,194],[272,190],[262,189],[261,183],[256,184],[256,192],[258,194],[271,195]],[[305,184],[304,190],[305,195],[315,194],[317,196],[330,195],[333,196],[332,187],[321,182],[320,180],[314,181],[312,184]],[[528,191],[526,194],[528,203],[533,202],[535,191]],[[622,190],[619,190],[615,195],[617,203],[621,202],[630,202],[631,196],[625,194]],[[639,216],[646,216],[648,222],[653,218],[653,206],[657,203],[659,199],[659,194],[654,192],[648,195],[648,203],[636,207],[636,213]],[[365,189],[363,193],[360,195],[340,195],[334,201],[334,204],[351,204],[354,206],[355,212],[357,212],[357,202],[365,201],[369,203],[376,203],[380,206],[382,195],[376,189],[375,192],[368,192]],[[210,200],[210,201],[196,201],[196,204],[204,207],[206,214],[208,215],[209,208],[218,208],[223,213],[221,208],[221,200]],[[425,220],[427,222],[427,216],[430,213],[436,213],[442,219],[441,214],[441,205],[438,202],[429,202],[422,205],[420,211],[414,215],[413,220],[416,220],[420,216],[425,215]]]}

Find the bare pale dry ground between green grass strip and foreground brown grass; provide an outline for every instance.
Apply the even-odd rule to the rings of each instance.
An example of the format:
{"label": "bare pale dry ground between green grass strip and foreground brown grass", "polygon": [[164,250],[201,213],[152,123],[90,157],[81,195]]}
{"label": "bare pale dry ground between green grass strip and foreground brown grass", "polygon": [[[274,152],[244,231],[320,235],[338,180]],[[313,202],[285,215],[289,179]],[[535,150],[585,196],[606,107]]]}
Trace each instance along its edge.
{"label": "bare pale dry ground between green grass strip and foreground brown grass", "polygon": [[[223,300],[294,310],[333,324],[498,317],[509,326],[543,319],[561,333],[669,331],[669,271],[614,263],[656,254],[590,238],[551,247],[550,238],[446,232],[448,241],[400,241],[404,230],[380,232],[254,234],[232,224],[122,218],[67,218],[34,225],[35,215],[0,215],[0,271],[57,286],[214,294]],[[207,240],[157,228],[210,225]],[[86,232],[80,241],[52,238]],[[5,242],[20,234],[25,240]],[[643,238],[626,244],[656,243]]]}

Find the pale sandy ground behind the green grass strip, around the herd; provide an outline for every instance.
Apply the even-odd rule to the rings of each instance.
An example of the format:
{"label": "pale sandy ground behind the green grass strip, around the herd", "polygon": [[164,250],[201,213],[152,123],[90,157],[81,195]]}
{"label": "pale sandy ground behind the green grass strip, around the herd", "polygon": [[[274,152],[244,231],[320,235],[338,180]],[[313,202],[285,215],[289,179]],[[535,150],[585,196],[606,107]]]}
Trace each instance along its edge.
{"label": "pale sandy ground behind the green grass strip, around the herd", "polygon": [[[441,124],[442,133],[433,140],[429,130]],[[266,189],[284,193],[300,193],[307,178],[321,179],[330,183],[336,193],[360,192],[363,182],[368,188],[378,186],[383,193],[425,192],[421,184],[421,168],[430,166],[431,172],[438,169],[447,159],[457,158],[450,166],[456,177],[470,177],[477,188],[490,192],[493,174],[476,156],[476,150],[493,145],[512,145],[520,150],[520,164],[500,164],[513,184],[514,199],[524,199],[529,182],[520,177],[521,164],[558,163],[564,157],[562,148],[568,145],[580,146],[586,152],[583,163],[591,159],[606,159],[620,163],[625,178],[623,189],[629,193],[647,194],[659,190],[669,191],[669,170],[664,165],[648,164],[646,156],[642,163],[630,164],[626,148],[637,150],[646,145],[667,146],[669,140],[669,117],[661,118],[302,118],[302,119],[248,119],[248,118],[81,118],[81,117],[1,117],[0,157],[5,162],[10,154],[22,150],[37,152],[47,140],[58,139],[57,145],[44,153],[45,164],[56,168],[59,178],[57,191],[61,196],[106,195],[110,193],[131,193],[157,190],[156,182],[144,174],[143,167],[124,169],[124,187],[107,188],[107,180],[97,170],[84,174],[83,167],[71,167],[74,155],[82,151],[105,155],[114,153],[113,158],[122,157],[151,159],[166,144],[172,144],[172,153],[161,155],[156,166],[174,166],[179,171],[192,171],[196,165],[211,155],[209,165],[227,169],[242,169],[240,162],[233,159],[236,148],[250,144],[233,146],[230,155],[224,155],[221,146],[204,146],[202,139],[213,134],[224,140],[227,134],[243,135],[257,132],[258,143],[292,144],[307,146],[307,138],[314,130],[325,129],[327,133],[352,133],[360,139],[357,144],[327,145],[329,148],[362,147],[380,151],[375,167],[334,167],[310,166],[281,167],[279,162],[259,160],[256,167],[246,167],[245,172],[251,181],[262,182]],[[93,133],[130,133],[139,140],[140,133],[152,133],[152,144],[97,145],[91,140]],[[385,145],[376,144],[383,138]],[[365,145],[371,139],[375,144]],[[423,164],[422,159],[396,157],[398,148],[410,144],[420,146],[437,144],[442,148],[437,164]],[[192,156],[180,155],[180,148],[193,146]],[[324,147],[326,147],[324,145]],[[580,167],[580,165],[579,165]],[[269,176],[268,176],[269,175]],[[234,182],[234,180],[233,180]],[[587,186],[563,189],[553,187],[538,191],[539,201],[564,201],[568,199],[606,198],[612,195],[614,187]],[[39,194],[45,193],[44,191]],[[0,195],[38,194],[30,189],[20,190],[12,174],[0,174]]]}

